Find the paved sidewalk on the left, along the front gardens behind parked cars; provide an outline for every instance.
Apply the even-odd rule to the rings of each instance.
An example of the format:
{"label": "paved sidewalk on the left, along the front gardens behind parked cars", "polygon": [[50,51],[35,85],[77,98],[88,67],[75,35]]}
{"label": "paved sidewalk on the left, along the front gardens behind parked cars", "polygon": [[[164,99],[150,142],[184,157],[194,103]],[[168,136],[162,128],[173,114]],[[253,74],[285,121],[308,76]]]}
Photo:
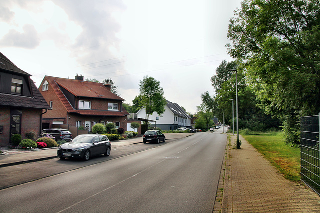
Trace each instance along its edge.
{"label": "paved sidewalk on the left, along the front gardens behind parked cars", "polygon": [[[166,140],[175,140],[183,137],[192,135],[193,133],[170,133],[165,134]],[[130,144],[142,143],[142,137],[135,137],[131,139],[126,139],[123,141],[111,141],[111,150],[120,146],[127,146]],[[13,166],[17,164],[30,163],[35,161],[43,161],[52,158],[57,158],[55,148],[48,149],[35,149],[35,150],[16,150],[16,149],[6,149],[1,147],[1,150],[5,153],[0,155],[0,168]]]}

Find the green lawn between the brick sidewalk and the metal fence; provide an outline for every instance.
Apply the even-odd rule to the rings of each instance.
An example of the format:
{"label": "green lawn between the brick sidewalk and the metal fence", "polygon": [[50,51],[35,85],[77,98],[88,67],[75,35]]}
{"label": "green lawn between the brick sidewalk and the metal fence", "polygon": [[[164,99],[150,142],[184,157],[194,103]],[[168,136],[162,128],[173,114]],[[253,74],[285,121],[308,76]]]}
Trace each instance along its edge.
{"label": "green lawn between the brick sidewalk and the metal fence", "polygon": [[300,148],[290,147],[283,142],[280,132],[248,135],[239,132],[255,149],[276,167],[284,178],[298,182],[300,180]]}

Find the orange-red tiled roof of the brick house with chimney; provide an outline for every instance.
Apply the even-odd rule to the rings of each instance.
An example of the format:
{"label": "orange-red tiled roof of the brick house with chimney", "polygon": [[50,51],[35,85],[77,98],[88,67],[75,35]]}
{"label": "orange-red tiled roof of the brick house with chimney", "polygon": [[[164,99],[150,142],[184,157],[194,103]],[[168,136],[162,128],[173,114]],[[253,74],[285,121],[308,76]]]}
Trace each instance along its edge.
{"label": "orange-red tiled roof of the brick house with chimney", "polygon": [[[120,100],[124,99],[113,94],[107,87],[102,83],[82,81],[67,78],[58,78],[52,76],[44,76],[42,82],[47,81],[57,97],[62,102],[63,106],[68,113],[78,113],[81,115],[91,115],[91,116],[125,116],[129,113],[122,106],[121,111],[108,111],[108,110],[87,110],[87,109],[74,109],[68,99],[65,97],[64,93],[60,88],[63,88],[77,97],[88,97],[88,98],[102,98],[108,100]],[[41,84],[42,85],[42,84]],[[41,86],[40,85],[40,86]]]}

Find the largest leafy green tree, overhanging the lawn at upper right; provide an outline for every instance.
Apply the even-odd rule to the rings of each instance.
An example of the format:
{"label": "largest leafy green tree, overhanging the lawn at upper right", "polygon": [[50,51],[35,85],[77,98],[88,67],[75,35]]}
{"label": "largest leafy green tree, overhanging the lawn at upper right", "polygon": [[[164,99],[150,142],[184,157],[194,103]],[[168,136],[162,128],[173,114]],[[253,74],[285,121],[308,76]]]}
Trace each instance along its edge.
{"label": "largest leafy green tree, overhanging the lawn at upper right", "polygon": [[228,53],[244,69],[261,108],[298,144],[298,118],[320,111],[320,2],[243,0],[229,21]]}

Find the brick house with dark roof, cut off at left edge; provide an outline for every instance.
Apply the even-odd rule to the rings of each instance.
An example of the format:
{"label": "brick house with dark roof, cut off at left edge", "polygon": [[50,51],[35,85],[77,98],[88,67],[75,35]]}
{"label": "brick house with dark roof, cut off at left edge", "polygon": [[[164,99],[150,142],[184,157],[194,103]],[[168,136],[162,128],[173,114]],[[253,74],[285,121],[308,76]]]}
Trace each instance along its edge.
{"label": "brick house with dark roof, cut off at left edge", "polygon": [[0,53],[0,146],[13,134],[40,134],[42,109],[49,106],[30,76]]}

